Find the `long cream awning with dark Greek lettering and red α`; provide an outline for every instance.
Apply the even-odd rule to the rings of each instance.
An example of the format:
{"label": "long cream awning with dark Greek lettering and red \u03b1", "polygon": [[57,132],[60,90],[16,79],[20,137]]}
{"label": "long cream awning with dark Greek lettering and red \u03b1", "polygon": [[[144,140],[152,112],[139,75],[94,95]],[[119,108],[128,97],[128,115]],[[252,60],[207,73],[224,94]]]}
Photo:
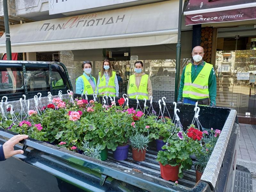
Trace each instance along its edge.
{"label": "long cream awning with dark Greek lettering and red \u03b1", "polygon": [[[177,43],[179,0],[10,26],[12,52]],[[0,38],[5,50],[5,35]]]}

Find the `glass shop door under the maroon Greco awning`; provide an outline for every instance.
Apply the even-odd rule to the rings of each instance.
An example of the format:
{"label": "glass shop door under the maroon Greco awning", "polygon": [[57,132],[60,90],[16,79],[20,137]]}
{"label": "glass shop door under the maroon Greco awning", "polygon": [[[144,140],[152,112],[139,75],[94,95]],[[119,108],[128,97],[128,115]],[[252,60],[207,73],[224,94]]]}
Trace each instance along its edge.
{"label": "glass shop door under the maroon Greco awning", "polygon": [[218,38],[216,104],[235,108],[238,115],[253,116],[256,113],[256,50],[253,39],[253,36],[239,35]]}

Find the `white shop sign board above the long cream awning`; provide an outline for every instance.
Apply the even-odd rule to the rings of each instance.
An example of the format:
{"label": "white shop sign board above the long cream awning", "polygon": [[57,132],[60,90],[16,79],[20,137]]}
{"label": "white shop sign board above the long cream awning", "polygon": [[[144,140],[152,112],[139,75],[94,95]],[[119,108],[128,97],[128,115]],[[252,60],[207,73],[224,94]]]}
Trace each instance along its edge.
{"label": "white shop sign board above the long cream awning", "polygon": [[133,1],[138,0],[49,0],[49,14],[80,11]]}

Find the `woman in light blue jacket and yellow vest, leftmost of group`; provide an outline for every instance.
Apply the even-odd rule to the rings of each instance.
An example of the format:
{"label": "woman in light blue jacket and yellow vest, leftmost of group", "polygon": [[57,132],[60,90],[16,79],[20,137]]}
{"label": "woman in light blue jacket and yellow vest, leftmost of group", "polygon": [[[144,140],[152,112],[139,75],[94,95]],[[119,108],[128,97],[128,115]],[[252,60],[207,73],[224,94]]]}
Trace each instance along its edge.
{"label": "woman in light blue jacket and yellow vest, leftmost of group", "polygon": [[84,94],[87,91],[88,95],[92,95],[97,90],[97,86],[96,79],[91,75],[91,61],[83,61],[82,69],[84,71],[83,75],[76,79],[76,94],[82,94],[82,90],[84,90]]}

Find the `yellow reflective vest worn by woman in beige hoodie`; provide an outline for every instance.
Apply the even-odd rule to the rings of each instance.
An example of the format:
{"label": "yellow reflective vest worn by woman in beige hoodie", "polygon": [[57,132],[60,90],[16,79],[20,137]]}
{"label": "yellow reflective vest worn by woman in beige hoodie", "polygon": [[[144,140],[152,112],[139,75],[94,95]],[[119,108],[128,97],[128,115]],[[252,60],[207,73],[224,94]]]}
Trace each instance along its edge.
{"label": "yellow reflective vest worn by woman in beige hoodie", "polygon": [[132,99],[136,99],[136,96],[138,95],[138,99],[142,100],[145,98],[148,100],[148,75],[143,75],[141,77],[139,89],[136,86],[135,75],[131,75],[127,93]]}

